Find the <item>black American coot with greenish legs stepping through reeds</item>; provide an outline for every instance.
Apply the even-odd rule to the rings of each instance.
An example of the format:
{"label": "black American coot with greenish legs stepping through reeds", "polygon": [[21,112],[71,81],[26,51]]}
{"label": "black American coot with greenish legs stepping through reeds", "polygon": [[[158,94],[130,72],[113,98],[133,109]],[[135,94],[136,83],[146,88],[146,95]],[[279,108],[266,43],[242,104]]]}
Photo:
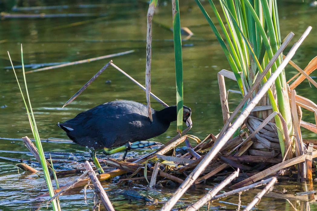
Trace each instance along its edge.
{"label": "black American coot with greenish legs stepping through reeds", "polygon": [[[164,133],[170,123],[177,119],[176,106],[170,106],[160,111],[152,110],[153,122],[148,118],[146,105],[133,101],[112,101],[81,112],[73,119],[57,126],[66,131],[73,142],[91,148],[91,156],[99,172],[103,173],[97,161],[95,149],[103,148],[106,155],[122,150],[146,147],[154,142],[146,139]],[[189,127],[191,109],[184,106],[183,121]],[[131,143],[133,142],[133,143]],[[114,149],[111,147],[121,146]],[[125,159],[126,152],[123,156]]]}

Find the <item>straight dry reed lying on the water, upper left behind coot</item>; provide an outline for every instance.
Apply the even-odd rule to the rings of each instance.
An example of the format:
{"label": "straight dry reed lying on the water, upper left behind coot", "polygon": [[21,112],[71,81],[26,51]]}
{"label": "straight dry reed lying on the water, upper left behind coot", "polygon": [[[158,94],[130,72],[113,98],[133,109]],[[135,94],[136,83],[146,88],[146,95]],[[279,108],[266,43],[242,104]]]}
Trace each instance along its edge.
{"label": "straight dry reed lying on the water, upper left behind coot", "polygon": [[35,69],[35,70],[27,71],[27,72],[25,72],[25,74],[39,72],[39,71],[48,70],[48,69],[67,67],[67,66],[75,65],[75,64],[93,62],[93,61],[97,61],[97,60],[100,60],[100,59],[106,59],[106,58],[110,58],[110,57],[114,57],[114,56],[121,56],[121,55],[125,55],[125,54],[130,54],[130,53],[133,53],[134,51],[135,50],[128,50],[128,51],[120,52],[120,53],[116,53],[116,54],[110,54],[110,55],[106,55],[106,56],[99,56],[99,57],[90,58],[90,59],[84,59],[84,60],[80,60],[80,61],[76,61],[76,62],[69,62],[69,63],[60,64],[60,65],[54,65],[54,66],[50,66],[50,67]]}

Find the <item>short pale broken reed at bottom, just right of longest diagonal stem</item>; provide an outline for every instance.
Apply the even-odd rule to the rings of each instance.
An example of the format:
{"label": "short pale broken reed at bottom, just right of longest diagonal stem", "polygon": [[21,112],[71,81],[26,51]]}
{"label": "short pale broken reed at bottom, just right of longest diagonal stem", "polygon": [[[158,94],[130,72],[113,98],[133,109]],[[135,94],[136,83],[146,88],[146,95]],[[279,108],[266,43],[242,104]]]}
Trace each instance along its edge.
{"label": "short pale broken reed at bottom, just right of longest diagonal stem", "polygon": [[212,190],[208,191],[206,195],[204,195],[201,199],[199,199],[196,203],[189,206],[186,211],[196,211],[204,204],[206,204],[212,197],[214,197],[221,189],[223,189],[226,185],[228,185],[232,180],[234,180],[239,175],[239,168],[233,172],[230,176],[228,176],[225,180],[223,180],[219,185],[217,185]]}

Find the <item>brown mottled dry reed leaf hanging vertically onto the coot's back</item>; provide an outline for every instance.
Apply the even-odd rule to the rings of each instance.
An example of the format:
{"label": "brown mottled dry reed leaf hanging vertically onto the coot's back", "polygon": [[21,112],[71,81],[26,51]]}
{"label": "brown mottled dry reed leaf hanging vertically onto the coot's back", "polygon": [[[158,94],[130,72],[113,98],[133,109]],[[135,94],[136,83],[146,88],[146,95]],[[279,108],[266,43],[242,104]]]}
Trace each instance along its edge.
{"label": "brown mottled dry reed leaf hanging vertically onto the coot's back", "polygon": [[152,19],[155,11],[155,3],[150,3],[149,9],[147,10],[147,30],[146,30],[146,70],[145,70],[145,93],[147,102],[148,117],[153,122],[150,93],[151,93],[151,56],[152,56]]}

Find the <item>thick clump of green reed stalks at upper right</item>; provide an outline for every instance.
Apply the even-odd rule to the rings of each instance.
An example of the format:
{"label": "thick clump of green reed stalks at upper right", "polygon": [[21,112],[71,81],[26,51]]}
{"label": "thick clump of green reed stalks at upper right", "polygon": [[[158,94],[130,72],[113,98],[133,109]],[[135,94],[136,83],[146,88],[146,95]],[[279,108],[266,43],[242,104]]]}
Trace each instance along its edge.
{"label": "thick clump of green reed stalks at upper right", "polygon": [[[255,82],[256,77],[263,71],[263,68],[281,45],[276,0],[219,0],[224,21],[214,1],[209,0],[224,40],[215,26],[215,20],[210,18],[199,0],[195,1],[215,33],[236,76],[242,96],[245,96],[245,93]],[[225,27],[226,24],[228,28]],[[281,61],[282,57],[280,56],[264,77],[262,83],[267,81],[267,77],[277,69]],[[260,103],[261,105],[272,105],[273,111],[281,113],[287,122],[288,132],[291,136],[293,125],[284,71],[276,79],[275,87],[268,90],[267,98],[264,97]],[[266,111],[257,113],[257,116],[262,119],[265,119],[268,115]],[[281,119],[277,115],[275,116],[275,122],[278,128],[281,152],[284,155],[285,143],[284,136],[281,133],[283,127]]]}

